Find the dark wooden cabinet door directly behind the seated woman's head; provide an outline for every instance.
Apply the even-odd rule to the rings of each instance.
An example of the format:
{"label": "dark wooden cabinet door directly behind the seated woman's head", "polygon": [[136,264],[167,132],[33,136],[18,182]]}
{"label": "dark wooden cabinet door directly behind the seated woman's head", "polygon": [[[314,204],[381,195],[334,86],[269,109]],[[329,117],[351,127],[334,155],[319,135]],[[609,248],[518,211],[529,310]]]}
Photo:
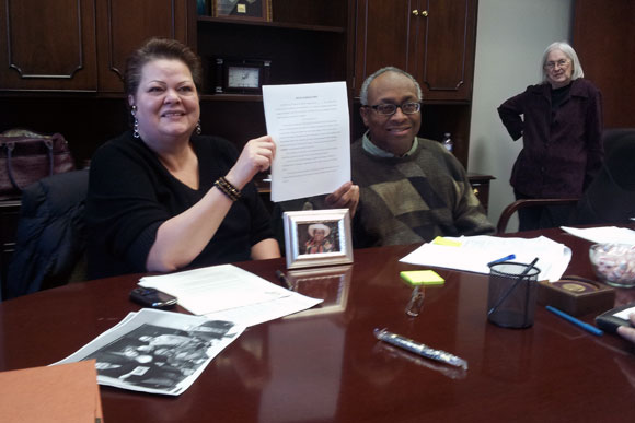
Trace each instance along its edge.
{"label": "dark wooden cabinet door directly behind the seated woman's head", "polygon": [[124,92],[126,59],[152,36],[187,39],[187,0],[96,0],[99,90]]}

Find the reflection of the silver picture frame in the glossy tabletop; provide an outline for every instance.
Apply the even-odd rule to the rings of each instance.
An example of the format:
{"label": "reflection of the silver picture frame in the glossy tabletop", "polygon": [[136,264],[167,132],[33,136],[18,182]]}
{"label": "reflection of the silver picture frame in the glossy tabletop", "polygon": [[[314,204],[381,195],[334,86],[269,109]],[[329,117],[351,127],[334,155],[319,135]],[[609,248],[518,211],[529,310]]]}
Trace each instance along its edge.
{"label": "reflection of the silver picture frame in the glossy tabletop", "polygon": [[315,316],[346,310],[353,266],[290,270],[287,280],[299,294],[324,299],[319,306],[285,318]]}

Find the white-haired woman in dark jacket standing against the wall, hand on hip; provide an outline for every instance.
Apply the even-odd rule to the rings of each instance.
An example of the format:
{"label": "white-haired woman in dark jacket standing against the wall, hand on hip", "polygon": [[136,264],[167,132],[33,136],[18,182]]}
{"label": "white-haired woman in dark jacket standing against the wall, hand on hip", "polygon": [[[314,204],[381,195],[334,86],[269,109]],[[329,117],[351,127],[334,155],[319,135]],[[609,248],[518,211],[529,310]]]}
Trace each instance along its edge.
{"label": "white-haired woman in dark jacket standing against the wall, hand on hip", "polygon": [[[567,43],[550,45],[541,68],[542,83],[498,107],[511,138],[523,140],[510,184],[517,200],[579,198],[604,155],[601,93],[584,79],[578,56]],[[573,208],[521,209],[519,231],[565,224]]]}

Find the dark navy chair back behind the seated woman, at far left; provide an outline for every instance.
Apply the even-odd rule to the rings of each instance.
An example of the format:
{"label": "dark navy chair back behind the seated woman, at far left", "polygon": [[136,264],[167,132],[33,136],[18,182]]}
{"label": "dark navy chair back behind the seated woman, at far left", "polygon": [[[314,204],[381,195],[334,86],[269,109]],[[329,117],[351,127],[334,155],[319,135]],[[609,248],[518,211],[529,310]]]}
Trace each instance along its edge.
{"label": "dark navy chair back behind the seated woman, at far left", "polygon": [[89,171],[82,169],[43,178],[23,190],[8,298],[85,278],[88,184]]}

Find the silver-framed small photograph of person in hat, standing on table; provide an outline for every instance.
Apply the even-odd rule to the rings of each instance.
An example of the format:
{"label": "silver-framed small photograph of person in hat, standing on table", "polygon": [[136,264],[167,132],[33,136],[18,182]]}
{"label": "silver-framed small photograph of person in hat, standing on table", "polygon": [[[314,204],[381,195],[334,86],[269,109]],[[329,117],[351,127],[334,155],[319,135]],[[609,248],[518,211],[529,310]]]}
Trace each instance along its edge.
{"label": "silver-framed small photograph of person in hat, standing on table", "polygon": [[287,269],[353,262],[348,209],[286,212]]}

